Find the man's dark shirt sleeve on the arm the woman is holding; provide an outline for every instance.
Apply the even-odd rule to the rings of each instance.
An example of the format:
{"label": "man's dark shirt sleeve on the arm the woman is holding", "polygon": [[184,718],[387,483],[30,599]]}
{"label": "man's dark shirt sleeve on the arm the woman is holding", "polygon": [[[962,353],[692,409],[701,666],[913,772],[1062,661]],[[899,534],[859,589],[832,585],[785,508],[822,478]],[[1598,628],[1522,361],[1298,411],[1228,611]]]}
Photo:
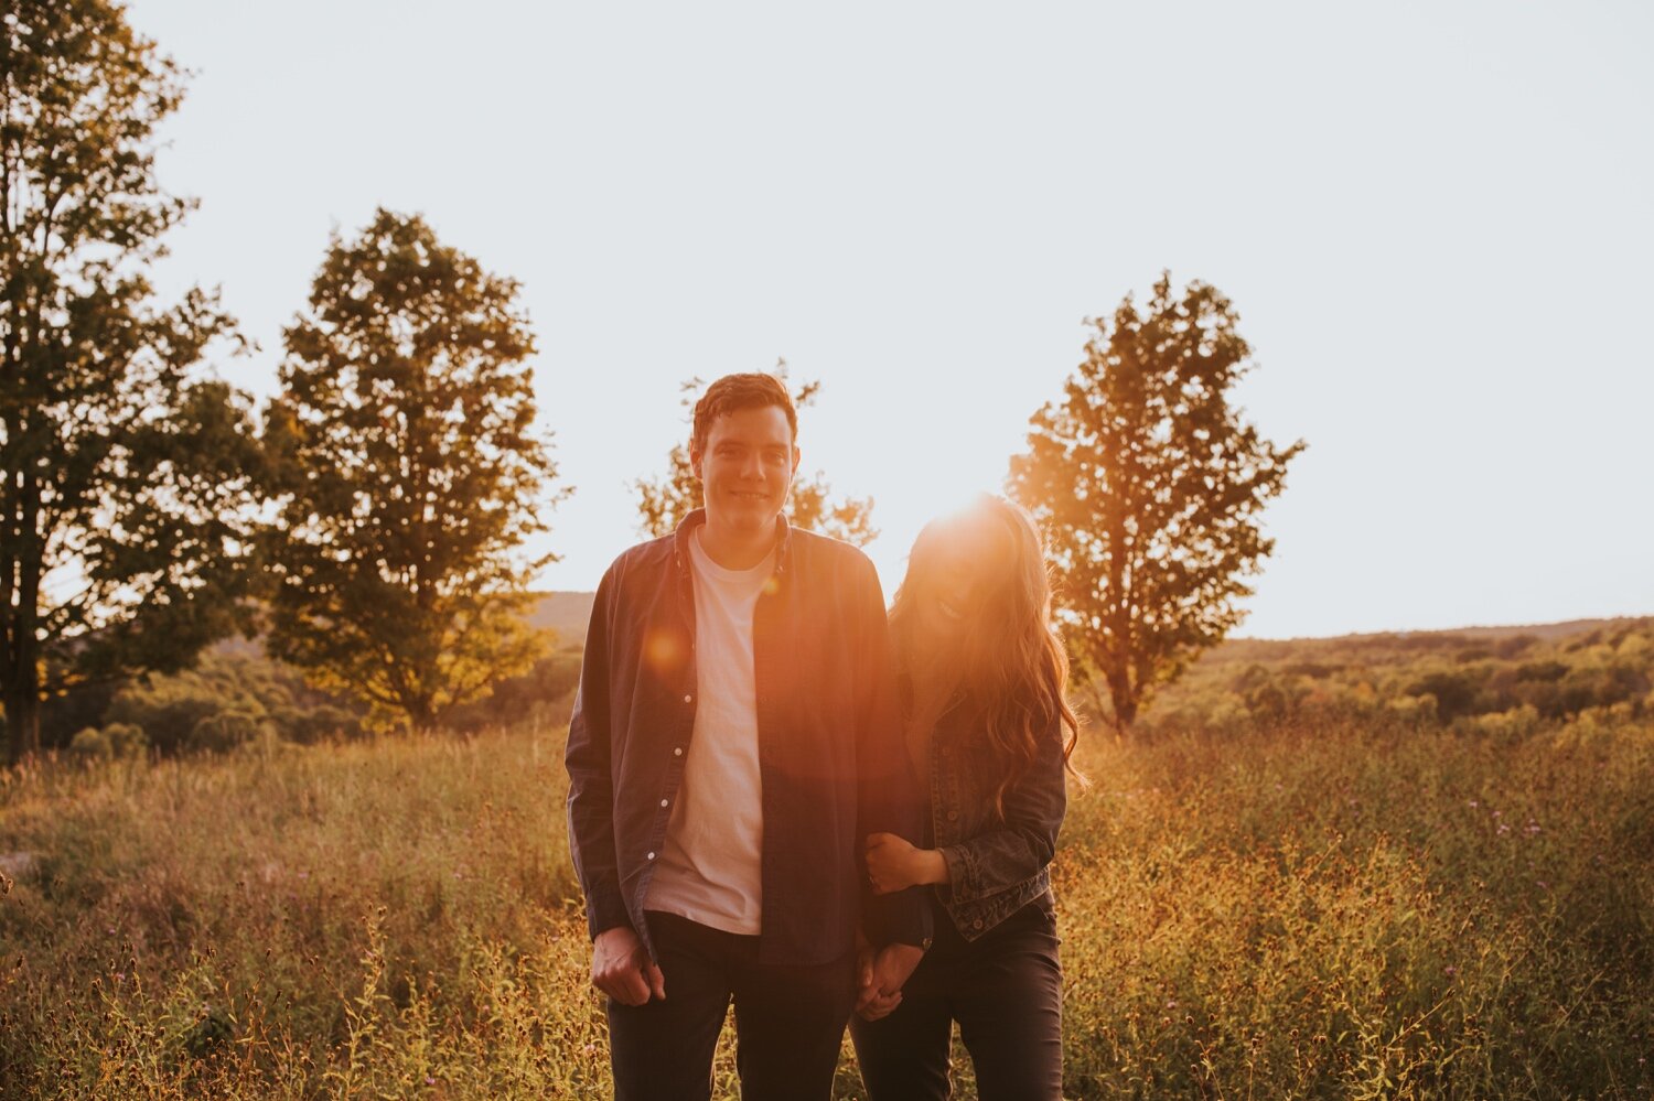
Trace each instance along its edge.
{"label": "man's dark shirt sleeve on the arm the woman is holding", "polygon": [[[895,833],[913,843],[925,840],[926,800],[913,777],[901,736],[895,653],[885,622],[885,595],[873,564],[860,559],[855,585],[857,625],[857,838]],[[865,850],[855,855],[860,873],[862,926],[875,946],[930,947],[931,909],[925,889],[913,886],[893,894],[873,894],[867,879]]]}

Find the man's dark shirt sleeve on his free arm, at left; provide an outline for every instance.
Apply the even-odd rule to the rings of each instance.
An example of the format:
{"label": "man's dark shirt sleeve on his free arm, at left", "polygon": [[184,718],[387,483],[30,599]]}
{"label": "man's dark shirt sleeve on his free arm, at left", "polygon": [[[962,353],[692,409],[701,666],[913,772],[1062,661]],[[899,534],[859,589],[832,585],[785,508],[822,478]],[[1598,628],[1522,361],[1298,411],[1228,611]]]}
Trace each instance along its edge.
{"label": "man's dark shirt sleeve on his free arm, at left", "polygon": [[614,602],[614,567],[604,575],[592,602],[586,632],[581,683],[569,717],[569,855],[586,896],[586,924],[595,939],[604,929],[630,926],[620,870],[615,860],[612,727],[609,711],[609,636]]}

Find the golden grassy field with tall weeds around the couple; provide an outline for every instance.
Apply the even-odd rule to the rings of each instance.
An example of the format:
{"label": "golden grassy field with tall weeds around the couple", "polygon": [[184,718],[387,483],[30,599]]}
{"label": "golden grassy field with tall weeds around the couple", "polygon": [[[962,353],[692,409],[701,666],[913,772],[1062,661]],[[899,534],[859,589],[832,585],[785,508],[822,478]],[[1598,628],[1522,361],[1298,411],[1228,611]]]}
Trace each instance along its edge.
{"label": "golden grassy field with tall weeds around the couple", "polygon": [[[0,1096],[607,1096],[561,751],[0,774]],[[1093,731],[1080,764],[1070,1096],[1651,1096],[1647,722]]]}

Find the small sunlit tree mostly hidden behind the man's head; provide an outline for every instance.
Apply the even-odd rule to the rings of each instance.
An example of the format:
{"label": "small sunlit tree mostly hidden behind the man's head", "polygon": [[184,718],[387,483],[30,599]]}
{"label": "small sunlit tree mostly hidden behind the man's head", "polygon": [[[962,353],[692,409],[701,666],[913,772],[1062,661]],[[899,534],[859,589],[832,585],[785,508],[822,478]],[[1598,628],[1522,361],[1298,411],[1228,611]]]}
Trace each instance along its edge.
{"label": "small sunlit tree mostly hidden behind the man's head", "polygon": [[[786,380],[787,362],[776,362],[776,377]],[[705,388],[705,380],[690,379],[683,384],[685,408],[695,408],[695,402]],[[805,382],[792,395],[792,403],[799,408],[810,405],[820,382]],[[640,478],[632,483],[638,494],[637,511],[643,517],[638,529],[645,536],[660,537],[676,531],[683,517],[701,506],[701,483],[690,466],[690,448],[678,443],[667,453],[667,474],[655,481]],[[834,539],[867,546],[878,537],[873,527],[873,498],[832,498],[832,486],[822,471],[809,478],[796,478],[792,483],[791,503],[787,508],[791,522],[809,531],[817,531]]]}

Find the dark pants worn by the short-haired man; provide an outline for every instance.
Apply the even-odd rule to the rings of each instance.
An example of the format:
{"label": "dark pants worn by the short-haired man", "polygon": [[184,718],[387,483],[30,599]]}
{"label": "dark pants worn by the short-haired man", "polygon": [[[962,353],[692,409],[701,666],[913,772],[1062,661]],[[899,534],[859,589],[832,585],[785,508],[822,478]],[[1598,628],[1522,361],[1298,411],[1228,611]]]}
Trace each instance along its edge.
{"label": "dark pants worn by the short-haired man", "polygon": [[713,1050],[734,999],[736,1070],[744,1101],[827,1101],[844,1023],[855,1005],[855,960],[814,967],[758,962],[758,937],[648,914],[667,999],[609,999],[619,1101],[711,1096]]}

